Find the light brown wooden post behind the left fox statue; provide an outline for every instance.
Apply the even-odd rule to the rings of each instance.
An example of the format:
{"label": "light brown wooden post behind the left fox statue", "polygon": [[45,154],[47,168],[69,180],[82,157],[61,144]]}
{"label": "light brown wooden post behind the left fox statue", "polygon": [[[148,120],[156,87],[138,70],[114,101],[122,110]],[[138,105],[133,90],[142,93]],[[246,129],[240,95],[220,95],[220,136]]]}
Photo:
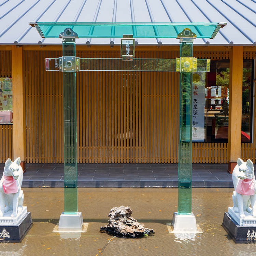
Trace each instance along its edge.
{"label": "light brown wooden post behind the left fox statue", "polygon": [[22,47],[12,45],[13,89],[13,160],[20,157],[23,171],[26,169],[26,104],[25,61]]}

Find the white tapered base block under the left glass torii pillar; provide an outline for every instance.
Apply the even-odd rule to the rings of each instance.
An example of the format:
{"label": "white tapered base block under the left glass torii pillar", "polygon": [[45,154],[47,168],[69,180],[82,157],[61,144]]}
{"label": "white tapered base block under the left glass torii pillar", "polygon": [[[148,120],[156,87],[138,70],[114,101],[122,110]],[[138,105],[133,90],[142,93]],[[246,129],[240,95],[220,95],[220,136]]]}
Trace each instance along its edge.
{"label": "white tapered base block under the left glass torii pillar", "polygon": [[82,231],[83,226],[83,216],[82,212],[77,212],[77,214],[64,214],[61,213],[59,218],[59,231]]}

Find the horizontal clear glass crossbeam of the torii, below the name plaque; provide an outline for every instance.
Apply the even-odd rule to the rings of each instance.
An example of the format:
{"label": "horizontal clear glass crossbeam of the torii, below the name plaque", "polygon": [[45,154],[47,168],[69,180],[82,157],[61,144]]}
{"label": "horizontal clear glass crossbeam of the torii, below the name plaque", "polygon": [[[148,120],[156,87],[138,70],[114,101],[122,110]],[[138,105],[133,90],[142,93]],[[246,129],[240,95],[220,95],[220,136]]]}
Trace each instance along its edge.
{"label": "horizontal clear glass crossbeam of the torii, below the name plaque", "polygon": [[[47,58],[46,71],[59,71],[59,59]],[[80,71],[176,71],[176,59],[80,59]],[[207,59],[197,59],[197,71],[207,72]]]}

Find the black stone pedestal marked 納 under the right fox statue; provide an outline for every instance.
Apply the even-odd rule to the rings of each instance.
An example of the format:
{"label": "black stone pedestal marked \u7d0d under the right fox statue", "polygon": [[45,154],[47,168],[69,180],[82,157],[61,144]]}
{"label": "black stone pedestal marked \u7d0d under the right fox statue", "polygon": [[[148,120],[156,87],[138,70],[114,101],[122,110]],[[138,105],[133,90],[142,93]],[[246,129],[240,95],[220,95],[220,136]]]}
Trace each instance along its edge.
{"label": "black stone pedestal marked \u7d0d under the right fox statue", "polygon": [[222,226],[235,243],[256,243],[256,227],[238,225],[227,212],[224,213]]}

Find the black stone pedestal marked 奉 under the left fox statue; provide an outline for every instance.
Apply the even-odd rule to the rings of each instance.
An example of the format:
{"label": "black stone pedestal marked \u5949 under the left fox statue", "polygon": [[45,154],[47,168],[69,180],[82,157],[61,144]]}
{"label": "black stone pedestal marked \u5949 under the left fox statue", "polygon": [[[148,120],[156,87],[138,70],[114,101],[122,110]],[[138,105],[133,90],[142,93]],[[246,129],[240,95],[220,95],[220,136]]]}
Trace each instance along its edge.
{"label": "black stone pedestal marked \u5949 under the left fox statue", "polygon": [[0,242],[20,243],[32,225],[30,212],[27,212],[17,225],[1,225]]}

